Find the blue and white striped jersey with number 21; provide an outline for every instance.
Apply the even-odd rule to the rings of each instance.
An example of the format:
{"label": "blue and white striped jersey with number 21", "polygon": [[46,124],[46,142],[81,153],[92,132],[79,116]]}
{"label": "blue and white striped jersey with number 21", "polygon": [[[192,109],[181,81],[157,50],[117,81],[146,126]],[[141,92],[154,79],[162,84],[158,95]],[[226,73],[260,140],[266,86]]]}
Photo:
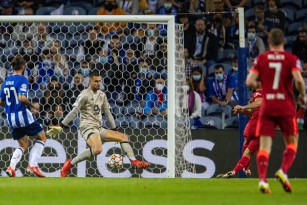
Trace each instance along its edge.
{"label": "blue and white striped jersey with number 21", "polygon": [[4,81],[0,98],[5,103],[7,120],[12,129],[22,128],[35,121],[31,111],[18,100],[18,94],[28,97],[29,82],[25,76],[11,75]]}

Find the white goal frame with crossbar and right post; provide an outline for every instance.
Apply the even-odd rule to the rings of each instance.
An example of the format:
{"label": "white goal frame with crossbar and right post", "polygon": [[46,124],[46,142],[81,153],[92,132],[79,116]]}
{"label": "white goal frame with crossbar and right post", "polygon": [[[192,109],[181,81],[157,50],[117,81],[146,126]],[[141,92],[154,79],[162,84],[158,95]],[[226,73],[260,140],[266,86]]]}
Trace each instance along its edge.
{"label": "white goal frame with crossbar and right post", "polygon": [[175,16],[174,15],[16,15],[1,23],[162,23],[167,24],[167,176],[175,177]]}

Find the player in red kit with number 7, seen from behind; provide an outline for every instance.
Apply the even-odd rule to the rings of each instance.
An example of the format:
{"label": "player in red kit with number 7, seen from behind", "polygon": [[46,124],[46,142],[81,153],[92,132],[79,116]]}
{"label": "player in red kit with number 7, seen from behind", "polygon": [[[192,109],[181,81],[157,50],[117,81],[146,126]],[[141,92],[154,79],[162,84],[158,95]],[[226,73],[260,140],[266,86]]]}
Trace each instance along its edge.
{"label": "player in red kit with number 7, seen from behind", "polygon": [[260,106],[256,135],[260,136],[260,146],[257,154],[259,175],[258,187],[262,193],[271,193],[267,182],[267,168],[272,147],[272,139],[276,126],[281,129],[286,144],[280,169],[275,173],[284,191],[292,192],[287,172],[295,159],[298,144],[298,126],[293,96],[293,78],[299,91],[298,100],[305,104],[305,85],[301,75],[299,59],[284,51],[285,43],[280,29],[272,29],[269,33],[270,50],[260,54],[249,73],[247,86],[257,88],[261,81],[264,97]]}

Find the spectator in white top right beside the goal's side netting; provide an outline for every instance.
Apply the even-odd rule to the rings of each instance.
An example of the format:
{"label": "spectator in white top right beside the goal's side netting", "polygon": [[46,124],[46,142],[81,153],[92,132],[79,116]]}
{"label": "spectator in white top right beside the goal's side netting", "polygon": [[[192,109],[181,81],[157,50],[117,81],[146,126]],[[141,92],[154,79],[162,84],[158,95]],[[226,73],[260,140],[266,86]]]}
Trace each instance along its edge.
{"label": "spectator in white top right beside the goal's side netting", "polygon": [[202,117],[202,100],[200,95],[194,91],[192,80],[186,79],[186,85],[184,86],[188,99],[189,116],[191,119]]}

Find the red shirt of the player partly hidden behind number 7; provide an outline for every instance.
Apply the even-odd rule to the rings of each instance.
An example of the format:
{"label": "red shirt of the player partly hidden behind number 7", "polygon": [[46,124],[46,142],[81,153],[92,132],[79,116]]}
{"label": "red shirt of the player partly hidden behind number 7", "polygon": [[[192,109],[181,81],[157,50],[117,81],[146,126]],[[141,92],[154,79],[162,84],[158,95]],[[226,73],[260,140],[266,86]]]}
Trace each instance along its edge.
{"label": "red shirt of the player partly hidden behind number 7", "polygon": [[[262,90],[255,91],[253,93],[253,101],[255,101],[255,99],[259,97],[262,98],[262,96],[263,96]],[[260,107],[255,108],[253,110],[252,115],[248,121],[248,124],[246,125],[244,129],[244,133],[243,133],[244,136],[254,137],[256,135],[255,133],[256,133],[257,121],[258,121],[258,116],[259,116],[259,110],[260,110]]]}

